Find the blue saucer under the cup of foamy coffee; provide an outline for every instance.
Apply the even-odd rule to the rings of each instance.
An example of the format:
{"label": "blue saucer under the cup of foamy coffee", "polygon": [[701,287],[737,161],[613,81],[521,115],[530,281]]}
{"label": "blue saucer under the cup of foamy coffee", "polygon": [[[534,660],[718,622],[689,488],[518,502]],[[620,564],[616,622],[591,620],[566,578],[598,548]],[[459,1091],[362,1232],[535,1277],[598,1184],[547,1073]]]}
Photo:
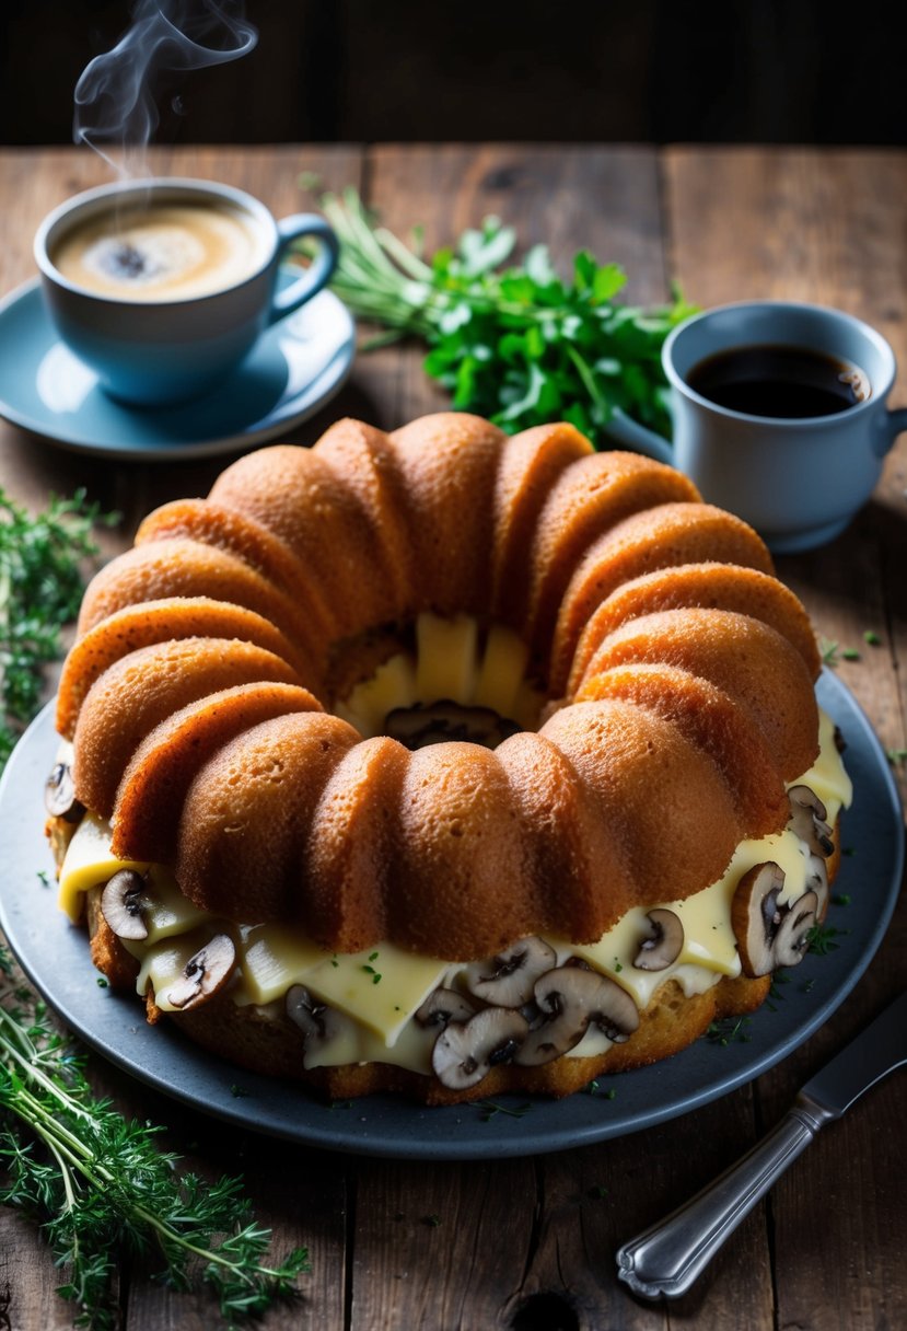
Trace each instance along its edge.
{"label": "blue saucer under the cup of foamy coffee", "polygon": [[177,407],[126,407],[63,345],[40,280],[0,303],[0,417],[76,453],[162,462],[233,453],[313,415],[347,374],[355,329],[346,306],[319,291],[273,325],[217,391]]}

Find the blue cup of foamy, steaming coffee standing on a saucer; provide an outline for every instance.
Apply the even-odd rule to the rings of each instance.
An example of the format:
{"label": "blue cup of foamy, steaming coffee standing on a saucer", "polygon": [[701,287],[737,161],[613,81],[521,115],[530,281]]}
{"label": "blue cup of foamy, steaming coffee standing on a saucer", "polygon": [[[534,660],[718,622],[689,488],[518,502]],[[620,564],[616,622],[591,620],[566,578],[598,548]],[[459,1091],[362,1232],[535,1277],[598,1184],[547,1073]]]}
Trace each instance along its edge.
{"label": "blue cup of foamy, steaming coffee standing on a saucer", "polygon": [[[211,228],[219,228],[223,245],[235,241],[235,253],[231,250],[230,262],[222,262],[214,250],[202,253],[202,241],[192,232],[180,240],[170,226],[169,232],[158,229],[149,261],[117,236],[126,234],[124,218],[150,214],[170,220],[178,214],[189,226],[199,220],[207,228],[198,233],[205,245]],[[86,234],[102,237],[92,241],[89,266],[81,260],[82,266],[72,266],[69,260],[64,264],[61,256]],[[318,241],[317,257],[299,270],[295,282],[278,291],[281,260],[302,238]],[[303,213],[275,221],[243,190],[181,178],[104,185],[77,194],[55,209],[35,237],[44,298],[60,337],[112,397],[137,406],[184,402],[213,390],[269,325],[299,309],[327,284],[338,249],[323,217]],[[161,256],[166,264],[174,254],[177,266],[185,260],[186,273],[198,261],[203,278],[194,285],[180,280],[156,286],[154,265],[160,269]],[[144,281],[142,272],[142,281],[132,282],[142,265],[152,277]]]}

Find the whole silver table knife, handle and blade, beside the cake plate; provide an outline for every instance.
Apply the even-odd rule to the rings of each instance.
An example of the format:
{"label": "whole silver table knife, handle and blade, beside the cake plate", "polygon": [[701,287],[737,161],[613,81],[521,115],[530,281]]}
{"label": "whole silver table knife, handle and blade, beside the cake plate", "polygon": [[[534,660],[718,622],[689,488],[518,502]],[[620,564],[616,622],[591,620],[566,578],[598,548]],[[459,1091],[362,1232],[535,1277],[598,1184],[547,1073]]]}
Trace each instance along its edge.
{"label": "whole silver table knife, handle and blade, beside the cake plate", "polygon": [[666,1219],[617,1250],[617,1275],[646,1299],[686,1294],[759,1198],[826,1123],[907,1063],[907,993],[803,1086],[767,1137]]}

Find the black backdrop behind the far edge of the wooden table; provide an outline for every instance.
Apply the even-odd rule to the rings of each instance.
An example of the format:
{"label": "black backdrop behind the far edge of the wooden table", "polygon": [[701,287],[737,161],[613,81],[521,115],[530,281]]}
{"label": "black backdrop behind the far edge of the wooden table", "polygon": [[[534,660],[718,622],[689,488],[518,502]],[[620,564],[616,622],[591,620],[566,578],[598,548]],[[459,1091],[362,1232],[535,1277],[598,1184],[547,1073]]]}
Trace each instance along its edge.
{"label": "black backdrop behind the far edge of the wooden table", "polygon": [[[247,0],[257,49],[165,80],[156,141],[904,144],[900,9]],[[0,141],[70,141],[76,80],[129,21],[128,0],[0,0]]]}

